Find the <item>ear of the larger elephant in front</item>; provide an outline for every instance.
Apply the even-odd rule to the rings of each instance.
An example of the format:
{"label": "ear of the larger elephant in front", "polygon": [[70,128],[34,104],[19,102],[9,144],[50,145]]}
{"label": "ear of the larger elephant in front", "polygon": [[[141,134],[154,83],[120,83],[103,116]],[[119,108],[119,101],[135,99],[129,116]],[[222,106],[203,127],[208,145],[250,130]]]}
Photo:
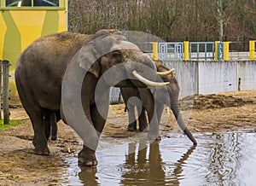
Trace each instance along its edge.
{"label": "ear of the larger elephant in front", "polygon": [[90,72],[94,74],[96,78],[99,78],[101,70],[101,65],[98,61],[99,57],[93,42],[85,44],[82,49],[79,50],[79,67],[83,67],[87,72]]}

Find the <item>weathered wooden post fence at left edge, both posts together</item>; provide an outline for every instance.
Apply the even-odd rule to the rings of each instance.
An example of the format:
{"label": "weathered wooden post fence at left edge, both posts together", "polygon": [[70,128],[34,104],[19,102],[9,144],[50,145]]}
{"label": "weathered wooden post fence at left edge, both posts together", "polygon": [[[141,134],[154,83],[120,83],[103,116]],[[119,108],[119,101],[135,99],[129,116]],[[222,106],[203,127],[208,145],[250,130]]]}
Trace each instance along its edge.
{"label": "weathered wooden post fence at left edge, both posts together", "polygon": [[[3,124],[9,124],[9,61],[0,61],[0,92],[1,100],[3,100]],[[3,91],[2,89],[2,77],[3,77]],[[0,119],[2,119],[1,104],[0,104]]]}

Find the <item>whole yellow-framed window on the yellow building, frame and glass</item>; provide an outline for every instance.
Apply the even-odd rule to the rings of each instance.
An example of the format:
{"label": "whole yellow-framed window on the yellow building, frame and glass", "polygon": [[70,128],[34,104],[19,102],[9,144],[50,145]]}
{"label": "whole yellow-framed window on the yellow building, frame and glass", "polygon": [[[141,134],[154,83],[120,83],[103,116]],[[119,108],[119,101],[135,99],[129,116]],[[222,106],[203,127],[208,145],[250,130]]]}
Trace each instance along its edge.
{"label": "whole yellow-framed window on the yellow building, frame and glass", "polygon": [[1,0],[0,8],[5,9],[60,9],[66,0]]}

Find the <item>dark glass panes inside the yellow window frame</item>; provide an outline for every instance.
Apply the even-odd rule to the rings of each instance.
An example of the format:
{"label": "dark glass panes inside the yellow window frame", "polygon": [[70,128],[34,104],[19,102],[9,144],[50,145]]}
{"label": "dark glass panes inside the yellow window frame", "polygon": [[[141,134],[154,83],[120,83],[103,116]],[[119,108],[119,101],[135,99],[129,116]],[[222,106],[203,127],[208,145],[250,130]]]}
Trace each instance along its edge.
{"label": "dark glass panes inside the yellow window frame", "polygon": [[5,0],[6,7],[59,7],[59,0]]}

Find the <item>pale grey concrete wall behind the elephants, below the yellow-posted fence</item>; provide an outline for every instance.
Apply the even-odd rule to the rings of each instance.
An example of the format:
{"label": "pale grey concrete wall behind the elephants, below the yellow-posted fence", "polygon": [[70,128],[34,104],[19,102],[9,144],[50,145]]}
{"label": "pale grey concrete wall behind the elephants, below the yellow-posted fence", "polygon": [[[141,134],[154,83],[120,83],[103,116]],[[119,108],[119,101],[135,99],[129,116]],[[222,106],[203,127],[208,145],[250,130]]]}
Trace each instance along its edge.
{"label": "pale grey concrete wall behind the elephants, below the yellow-posted fence", "polygon": [[[175,68],[180,95],[214,94],[238,90],[256,90],[256,61],[163,61]],[[117,102],[119,89],[112,88],[110,100]]]}

